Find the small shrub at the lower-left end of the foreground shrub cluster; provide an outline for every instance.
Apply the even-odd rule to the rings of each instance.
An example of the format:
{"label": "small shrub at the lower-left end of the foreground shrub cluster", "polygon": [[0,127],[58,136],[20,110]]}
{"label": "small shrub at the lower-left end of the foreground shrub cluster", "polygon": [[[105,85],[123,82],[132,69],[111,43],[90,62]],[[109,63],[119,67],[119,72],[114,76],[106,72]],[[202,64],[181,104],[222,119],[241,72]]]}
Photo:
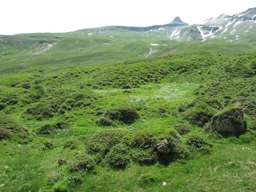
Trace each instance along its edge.
{"label": "small shrub at the lower-left end of the foreground shrub cluster", "polygon": [[78,156],[75,161],[69,164],[69,172],[91,172],[94,169],[95,161],[91,155]]}

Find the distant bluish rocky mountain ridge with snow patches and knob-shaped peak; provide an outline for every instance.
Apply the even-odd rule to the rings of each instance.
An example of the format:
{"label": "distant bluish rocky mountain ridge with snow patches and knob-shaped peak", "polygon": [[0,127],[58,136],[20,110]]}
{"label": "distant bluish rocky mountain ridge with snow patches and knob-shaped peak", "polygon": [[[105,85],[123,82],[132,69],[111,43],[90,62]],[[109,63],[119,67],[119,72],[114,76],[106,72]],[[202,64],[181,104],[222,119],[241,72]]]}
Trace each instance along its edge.
{"label": "distant bluish rocky mountain ridge with snow patches and knob-shaped peak", "polygon": [[[106,26],[102,28],[87,28],[75,33],[105,33],[110,31],[131,31],[149,34],[162,31],[173,41],[208,41],[221,39],[227,42],[238,42],[247,34],[253,35],[256,28],[256,8],[247,9],[236,15],[219,15],[217,18],[210,18],[201,24],[189,25],[176,17],[171,23],[165,25],[132,27],[132,26]],[[252,40],[252,38],[247,38]],[[255,39],[255,40],[254,40]],[[256,38],[253,41],[256,43]]]}

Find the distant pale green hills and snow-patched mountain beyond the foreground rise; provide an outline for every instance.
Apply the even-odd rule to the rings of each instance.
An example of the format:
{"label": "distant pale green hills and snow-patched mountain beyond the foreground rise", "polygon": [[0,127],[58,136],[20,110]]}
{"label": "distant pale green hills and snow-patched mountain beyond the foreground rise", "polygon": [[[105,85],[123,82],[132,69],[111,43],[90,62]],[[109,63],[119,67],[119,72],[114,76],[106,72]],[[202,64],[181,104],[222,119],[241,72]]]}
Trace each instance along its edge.
{"label": "distant pale green hills and snow-patched mountain beyond the foreground rise", "polygon": [[62,34],[0,35],[0,73],[53,72],[75,65],[109,64],[192,51],[256,50],[256,8],[190,25],[105,26]]}

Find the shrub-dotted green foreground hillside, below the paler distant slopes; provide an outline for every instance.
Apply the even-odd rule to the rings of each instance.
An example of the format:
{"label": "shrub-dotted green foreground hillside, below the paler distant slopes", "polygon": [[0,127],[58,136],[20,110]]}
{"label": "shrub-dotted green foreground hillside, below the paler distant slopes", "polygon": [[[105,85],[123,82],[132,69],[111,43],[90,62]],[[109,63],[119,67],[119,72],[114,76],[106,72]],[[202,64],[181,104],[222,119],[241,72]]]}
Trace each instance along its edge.
{"label": "shrub-dotted green foreground hillside, below the paler distant slopes", "polygon": [[256,190],[255,53],[49,54],[1,65],[0,191]]}

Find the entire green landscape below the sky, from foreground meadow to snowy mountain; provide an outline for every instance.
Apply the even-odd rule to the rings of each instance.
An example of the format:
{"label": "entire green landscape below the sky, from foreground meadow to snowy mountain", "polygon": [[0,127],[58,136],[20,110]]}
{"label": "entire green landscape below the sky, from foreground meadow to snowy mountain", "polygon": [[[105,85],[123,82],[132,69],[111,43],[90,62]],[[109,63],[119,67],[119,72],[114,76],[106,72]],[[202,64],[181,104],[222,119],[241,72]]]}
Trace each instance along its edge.
{"label": "entire green landscape below the sky, from foreground meadow to snowy mountain", "polygon": [[0,35],[0,191],[256,191],[256,8]]}

